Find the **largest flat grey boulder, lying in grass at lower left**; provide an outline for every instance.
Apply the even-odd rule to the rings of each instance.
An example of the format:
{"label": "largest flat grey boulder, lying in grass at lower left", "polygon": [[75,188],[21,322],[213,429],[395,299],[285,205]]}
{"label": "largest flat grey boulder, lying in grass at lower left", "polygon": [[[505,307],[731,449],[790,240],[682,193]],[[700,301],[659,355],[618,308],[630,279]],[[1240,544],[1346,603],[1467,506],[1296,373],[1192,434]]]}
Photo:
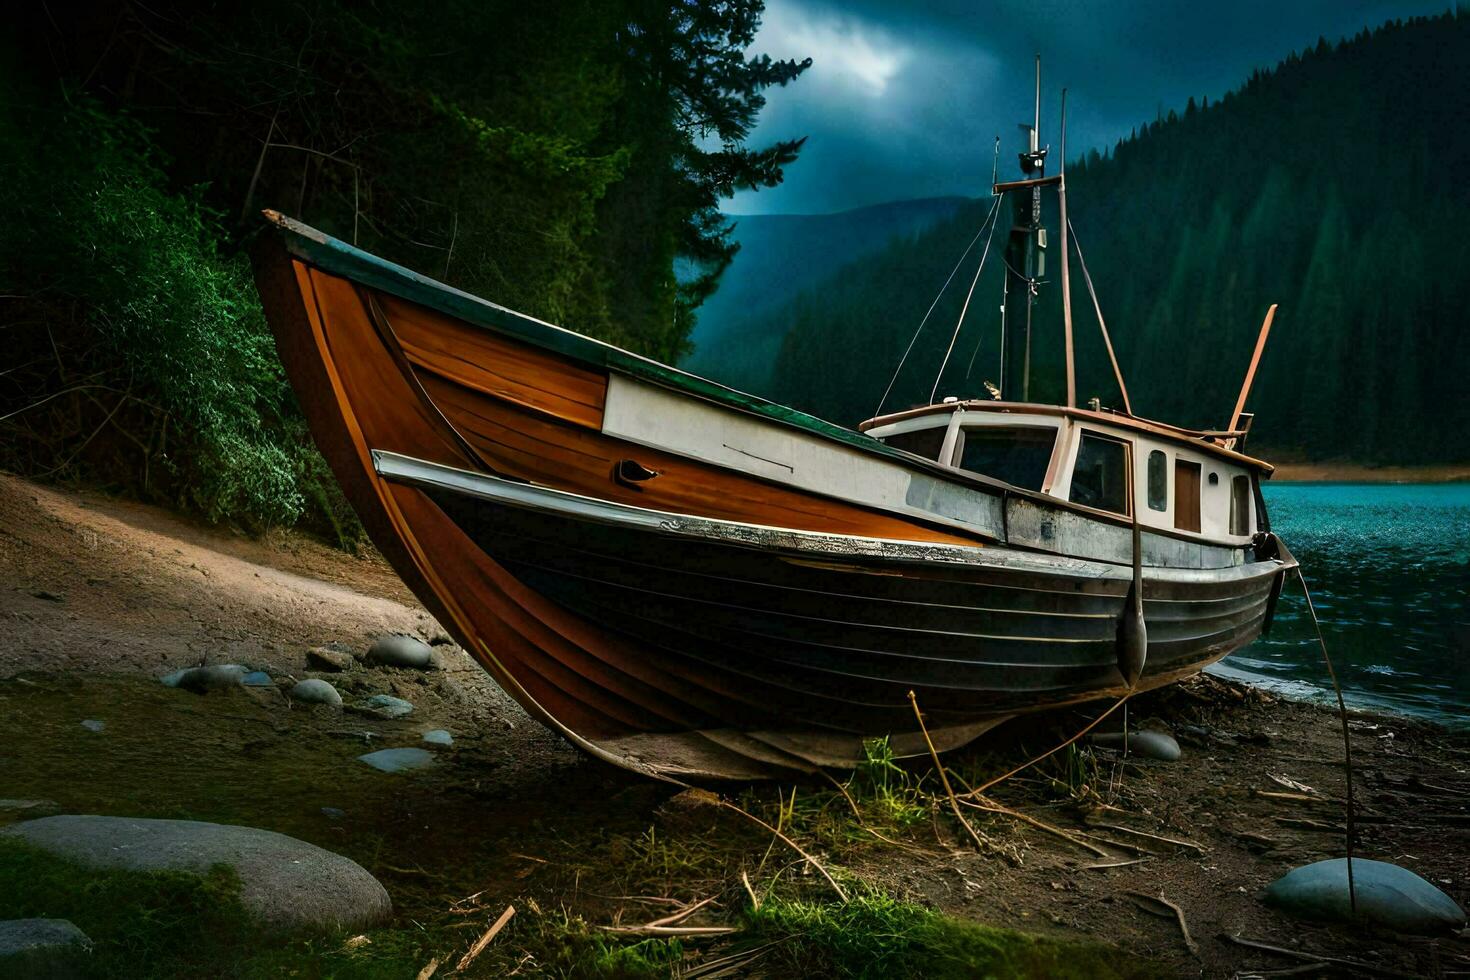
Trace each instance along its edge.
{"label": "largest flat grey boulder, lying in grass at lower left", "polygon": [[388,918],[392,902],[356,861],[270,830],[196,820],[43,817],[0,830],[94,868],[204,873],[226,864],[240,901],[279,932],[359,930]]}

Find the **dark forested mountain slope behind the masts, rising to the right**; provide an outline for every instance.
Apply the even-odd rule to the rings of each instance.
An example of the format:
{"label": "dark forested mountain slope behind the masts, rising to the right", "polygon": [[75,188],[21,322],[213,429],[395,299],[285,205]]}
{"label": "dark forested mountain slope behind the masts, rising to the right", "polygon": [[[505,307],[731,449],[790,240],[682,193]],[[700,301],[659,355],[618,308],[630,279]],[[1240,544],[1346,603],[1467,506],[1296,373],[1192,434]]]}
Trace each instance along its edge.
{"label": "dark forested mountain slope behind the masts, rising to the right", "polygon": [[[1220,101],[1142,126],[1067,169],[1069,210],[1136,413],[1227,422],[1266,309],[1250,408],[1257,451],[1470,458],[1470,18],[1394,22],[1288,57]],[[1076,93],[1085,98],[1085,93]],[[1000,126],[1000,120],[997,120]],[[776,316],[773,397],[856,423],[989,201],[845,267]],[[1032,397],[1063,397],[1057,226],[1048,216]],[[1005,220],[995,235],[1004,245]],[[997,375],[992,250],[939,395]],[[979,245],[920,335],[888,408],[926,401]],[[1079,401],[1120,404],[1073,259]],[[973,369],[972,366],[973,357]]]}

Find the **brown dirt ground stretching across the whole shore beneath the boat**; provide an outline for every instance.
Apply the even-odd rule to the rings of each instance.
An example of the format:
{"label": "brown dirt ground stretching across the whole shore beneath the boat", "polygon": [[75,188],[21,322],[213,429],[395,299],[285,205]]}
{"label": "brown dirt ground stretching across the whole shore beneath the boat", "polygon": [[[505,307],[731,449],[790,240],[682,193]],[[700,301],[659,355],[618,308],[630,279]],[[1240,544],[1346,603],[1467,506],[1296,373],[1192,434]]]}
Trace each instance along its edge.
{"label": "brown dirt ground stretching across the whole shore beneath the boat", "polygon": [[[360,649],[382,632],[438,639],[438,624],[372,555],[290,535],[256,541],[156,508],[0,476],[0,623],[9,627],[0,644],[0,785],[9,789],[0,796],[46,796],[72,811],[190,814],[303,836],[381,874],[413,921],[442,918],[445,895],[476,892],[491,912],[516,902],[564,908],[591,923],[647,918],[647,908],[626,896],[722,895],[726,911],[716,921],[738,923],[742,873],[761,890],[810,887],[811,876],[800,877],[804,865],[784,860],[791,855],[779,845],[770,851],[769,836],[753,837],[748,823],[686,818],[669,807],[673,789],[578,757],[453,645],[438,648],[445,669],[431,674],[359,667],[332,677],[348,698],[394,692],[419,707],[395,723],[293,710],[270,691],[196,698],[153,680],[201,661],[304,676],[315,645]],[[100,741],[78,724],[107,711],[116,720]],[[1341,742],[1330,713],[1200,679],[1141,698],[1132,721],[1172,730],[1185,760],[1122,760],[1107,749],[1058,755],[994,792],[1070,833],[1095,833],[1091,843],[1107,858],[1035,826],[972,813],[997,846],[978,854],[926,789],[933,782],[926,765],[910,767],[903,782],[920,789],[900,792],[904,805],[919,808],[917,821],[885,826],[901,848],[842,823],[847,804],[829,783],[788,786],[784,804],[770,786],[741,799],[770,821],[784,820],[850,882],[960,918],[1116,943],[1176,976],[1294,965],[1226,934],[1348,955],[1402,976],[1470,973],[1464,936],[1426,940],[1308,926],[1261,904],[1261,887],[1286,870],[1341,854]],[[1079,716],[1064,714],[1008,726],[950,764],[980,780],[1079,724]],[[353,760],[363,742],[409,745],[431,726],[454,730],[460,745],[432,774],[385,782]],[[1352,739],[1360,854],[1402,864],[1464,904],[1470,739],[1376,716],[1358,716]],[[187,746],[182,758],[175,743]],[[140,785],[138,771],[151,783]],[[201,780],[201,771],[212,777]],[[853,792],[869,820],[886,813],[857,783]],[[329,811],[348,817],[323,815]],[[1125,826],[1155,839],[1116,829]],[[1089,867],[1110,862],[1119,867]],[[1185,948],[1172,918],[1141,908],[1147,899],[1130,892],[1176,902],[1198,954]],[[529,936],[532,920],[522,917],[519,929]],[[507,970],[525,955],[517,942],[510,936],[495,954]],[[738,936],[689,940],[688,962],[738,943]],[[485,976],[495,964],[487,958]]]}

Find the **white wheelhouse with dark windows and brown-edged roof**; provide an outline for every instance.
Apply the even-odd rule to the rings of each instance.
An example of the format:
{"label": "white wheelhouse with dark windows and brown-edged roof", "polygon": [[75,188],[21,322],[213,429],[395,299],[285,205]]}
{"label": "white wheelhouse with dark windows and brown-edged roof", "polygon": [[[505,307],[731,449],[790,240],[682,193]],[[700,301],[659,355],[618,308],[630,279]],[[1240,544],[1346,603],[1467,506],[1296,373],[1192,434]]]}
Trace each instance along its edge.
{"label": "white wheelhouse with dark windows and brown-edged roof", "polygon": [[1233,547],[1267,530],[1270,466],[1210,432],[1053,406],[945,403],[861,430],[926,460],[1151,530]]}

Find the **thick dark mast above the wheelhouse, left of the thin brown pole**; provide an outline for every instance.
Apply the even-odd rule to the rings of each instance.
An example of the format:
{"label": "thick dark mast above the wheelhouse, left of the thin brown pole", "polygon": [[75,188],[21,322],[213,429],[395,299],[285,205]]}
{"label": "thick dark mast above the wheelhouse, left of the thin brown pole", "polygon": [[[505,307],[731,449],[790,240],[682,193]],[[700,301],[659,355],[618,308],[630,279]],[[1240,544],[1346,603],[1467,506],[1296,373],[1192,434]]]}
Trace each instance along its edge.
{"label": "thick dark mast above the wheelhouse, left of the thin brown pole", "polygon": [[[1028,131],[1028,148],[1020,154],[1020,170],[1026,179],[1041,178],[1047,170],[1047,150],[1041,147],[1041,54],[1036,56],[1036,100]],[[1004,185],[997,185],[1004,187]],[[1011,231],[1005,242],[1005,291],[1001,314],[1001,392],[1020,401],[1030,400],[1030,314],[1036,298],[1035,282],[1044,267],[1038,262],[1038,245],[1045,247],[1041,232],[1041,187],[1030,194],[1011,195]],[[1017,336],[1019,334],[1019,336]]]}

